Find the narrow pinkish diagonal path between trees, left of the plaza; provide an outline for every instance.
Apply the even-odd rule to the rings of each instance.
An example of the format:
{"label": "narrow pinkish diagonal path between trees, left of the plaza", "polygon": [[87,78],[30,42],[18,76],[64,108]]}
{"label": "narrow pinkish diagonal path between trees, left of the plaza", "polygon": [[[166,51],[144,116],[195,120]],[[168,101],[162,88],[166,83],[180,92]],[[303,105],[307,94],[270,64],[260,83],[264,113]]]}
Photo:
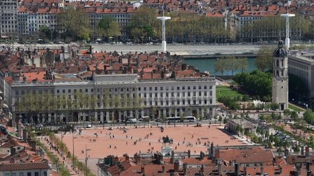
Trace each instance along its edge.
{"label": "narrow pinkish diagonal path between trees, left of the plaza", "polygon": [[[66,166],[66,168],[68,168],[68,171],[70,172],[71,175],[82,175],[77,174],[77,172],[75,170],[77,170],[77,168],[75,170],[73,170],[72,168],[72,160],[71,159],[67,159],[66,157],[61,157],[61,152],[57,151],[57,149],[54,149],[54,147],[50,146],[50,142],[46,141],[45,138],[40,138],[40,142],[43,143],[47,149],[50,149],[50,152],[52,152],[52,154],[54,154],[54,156],[57,156],[59,158],[60,162],[64,163],[64,166]],[[65,154],[63,154],[63,156],[66,156]]]}

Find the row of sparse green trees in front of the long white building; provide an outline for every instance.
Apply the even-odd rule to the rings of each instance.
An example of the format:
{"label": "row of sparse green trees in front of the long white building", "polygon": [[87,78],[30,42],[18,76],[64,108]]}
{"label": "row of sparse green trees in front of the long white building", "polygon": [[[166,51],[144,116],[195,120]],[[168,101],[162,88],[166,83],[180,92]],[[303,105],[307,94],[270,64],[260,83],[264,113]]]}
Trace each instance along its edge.
{"label": "row of sparse green trees in front of the long white building", "polygon": [[[15,111],[26,113],[29,116],[38,115],[38,113],[56,112],[57,117],[61,113],[70,115],[73,111],[89,111],[89,116],[94,117],[96,109],[124,109],[138,110],[142,109],[142,98],[131,97],[131,94],[111,94],[108,89],[104,89],[100,95],[89,95],[87,93],[76,92],[71,95],[54,95],[52,93],[28,93],[22,95],[15,104]],[[61,121],[60,119],[57,121]]]}

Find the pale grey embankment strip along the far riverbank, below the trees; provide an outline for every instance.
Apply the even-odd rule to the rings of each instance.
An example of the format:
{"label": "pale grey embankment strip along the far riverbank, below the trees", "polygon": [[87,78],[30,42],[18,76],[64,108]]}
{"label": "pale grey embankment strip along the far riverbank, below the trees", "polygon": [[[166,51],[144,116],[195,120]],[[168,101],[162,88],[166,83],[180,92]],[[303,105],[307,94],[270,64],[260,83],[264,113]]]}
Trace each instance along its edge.
{"label": "pale grey embankment strip along the far riverbank, below the trees", "polygon": [[[73,43],[75,44],[75,43]],[[61,48],[61,46],[67,46],[71,44],[45,44],[45,45],[8,45],[13,47],[13,49],[45,49],[49,48]],[[4,44],[2,47],[6,46]],[[242,54],[244,52],[253,52],[256,53],[262,45],[167,45],[167,51],[170,51],[171,54],[177,55],[195,55],[195,54]],[[154,52],[156,50],[160,51],[160,45],[93,45],[94,51],[117,51],[123,53],[135,53],[137,52]]]}

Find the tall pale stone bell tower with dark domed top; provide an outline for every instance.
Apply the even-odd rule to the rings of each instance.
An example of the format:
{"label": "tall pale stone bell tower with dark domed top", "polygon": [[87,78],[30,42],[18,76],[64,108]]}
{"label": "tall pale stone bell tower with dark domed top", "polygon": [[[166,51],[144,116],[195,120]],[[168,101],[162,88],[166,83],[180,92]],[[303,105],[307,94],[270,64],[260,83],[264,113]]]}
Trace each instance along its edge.
{"label": "tall pale stone bell tower with dark domed top", "polygon": [[279,104],[281,111],[288,108],[287,50],[283,48],[282,40],[274,51],[272,102]]}

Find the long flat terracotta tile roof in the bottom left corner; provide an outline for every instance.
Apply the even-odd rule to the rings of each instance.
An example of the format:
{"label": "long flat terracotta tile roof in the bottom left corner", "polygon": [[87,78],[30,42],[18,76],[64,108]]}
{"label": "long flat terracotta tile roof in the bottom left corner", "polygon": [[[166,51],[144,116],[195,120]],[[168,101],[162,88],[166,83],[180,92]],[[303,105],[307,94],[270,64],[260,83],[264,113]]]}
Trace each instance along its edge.
{"label": "long flat terracotta tile roof in the bottom left corner", "polygon": [[0,171],[49,169],[48,162],[1,164]]}

